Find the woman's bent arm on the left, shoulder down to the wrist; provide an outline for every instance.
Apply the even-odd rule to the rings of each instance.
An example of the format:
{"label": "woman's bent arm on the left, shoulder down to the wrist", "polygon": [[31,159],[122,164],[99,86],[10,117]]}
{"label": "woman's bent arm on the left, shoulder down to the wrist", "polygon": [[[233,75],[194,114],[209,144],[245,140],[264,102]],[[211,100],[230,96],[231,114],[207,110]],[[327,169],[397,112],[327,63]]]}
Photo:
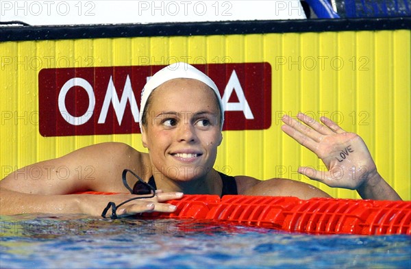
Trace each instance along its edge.
{"label": "woman's bent arm on the left, shoulder down to the wrist", "polygon": [[[0,181],[0,214],[101,214],[108,198],[73,193],[128,192],[121,173],[124,168],[136,168],[132,166],[138,163],[139,154],[122,143],[103,143],[20,168]],[[118,200],[121,203],[124,197]],[[92,209],[85,205],[92,205]]]}

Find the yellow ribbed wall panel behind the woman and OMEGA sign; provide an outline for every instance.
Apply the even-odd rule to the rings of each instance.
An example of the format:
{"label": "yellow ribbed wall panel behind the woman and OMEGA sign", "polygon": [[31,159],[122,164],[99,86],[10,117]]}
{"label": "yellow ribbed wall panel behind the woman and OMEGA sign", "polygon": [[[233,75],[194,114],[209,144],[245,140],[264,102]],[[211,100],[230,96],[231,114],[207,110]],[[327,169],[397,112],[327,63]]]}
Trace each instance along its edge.
{"label": "yellow ribbed wall panel behind the woman and OMEGA sign", "polygon": [[263,131],[224,131],[215,167],[229,175],[286,177],[328,188],[297,174],[322,168],[310,151],[280,130],[283,113],[329,116],[365,140],[379,172],[410,200],[410,31],[340,31],[151,38],[0,42],[1,175],[82,146],[125,142],[140,151],[140,135],[44,138],[38,131],[42,68],[224,62],[269,62],[272,123]]}

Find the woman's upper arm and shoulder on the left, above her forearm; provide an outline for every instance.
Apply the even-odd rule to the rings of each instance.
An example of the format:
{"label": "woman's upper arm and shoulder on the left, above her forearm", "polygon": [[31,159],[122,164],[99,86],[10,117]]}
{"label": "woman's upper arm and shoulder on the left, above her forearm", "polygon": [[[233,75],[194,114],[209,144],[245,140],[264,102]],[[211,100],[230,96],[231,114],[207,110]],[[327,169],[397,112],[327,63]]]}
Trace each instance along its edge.
{"label": "woman's upper arm and shoulder on the left, above her forearm", "polygon": [[141,153],[122,143],[86,146],[56,159],[19,168],[0,181],[0,188],[39,195],[90,190],[128,192],[123,187],[121,173],[124,168],[136,165],[133,161],[138,163],[138,154]]}

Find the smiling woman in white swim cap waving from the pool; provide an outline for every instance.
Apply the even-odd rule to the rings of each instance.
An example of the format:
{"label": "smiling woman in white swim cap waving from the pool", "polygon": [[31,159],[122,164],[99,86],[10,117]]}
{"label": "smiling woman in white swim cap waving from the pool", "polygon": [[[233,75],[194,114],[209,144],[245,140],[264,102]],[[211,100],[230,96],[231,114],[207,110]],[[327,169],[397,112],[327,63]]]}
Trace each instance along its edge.
{"label": "smiling woman in white swim cap waving from the pool", "polygon": [[[153,75],[143,89],[140,111],[142,144],[149,153],[141,153],[126,144],[108,142],[17,170],[0,181],[1,214],[100,215],[108,201],[119,205],[127,199],[140,197],[137,196],[139,181],[131,174],[127,174],[126,181],[134,185],[136,194],[125,194],[128,190],[121,181],[125,168],[142,181],[155,185],[157,191],[152,198],[119,206],[116,212],[119,216],[173,212],[173,205],[162,202],[181,198],[183,193],[329,197],[322,190],[299,181],[229,177],[214,170],[217,148],[223,139],[223,105],[214,82],[193,66],[172,64]],[[316,153],[329,168],[329,172],[299,168],[301,174],[331,187],[357,190],[362,198],[400,199],[378,174],[359,136],[345,132],[325,117],[321,118],[323,125],[304,114],[298,114],[297,118],[306,125],[284,116],[282,130]],[[340,161],[339,153],[344,150],[349,154]],[[55,168],[60,166],[69,169],[68,179],[59,179]],[[75,172],[79,166],[95,170],[92,180],[79,177]],[[32,168],[42,170],[41,179],[27,179],[24,171]],[[75,194],[89,190],[123,194]]]}

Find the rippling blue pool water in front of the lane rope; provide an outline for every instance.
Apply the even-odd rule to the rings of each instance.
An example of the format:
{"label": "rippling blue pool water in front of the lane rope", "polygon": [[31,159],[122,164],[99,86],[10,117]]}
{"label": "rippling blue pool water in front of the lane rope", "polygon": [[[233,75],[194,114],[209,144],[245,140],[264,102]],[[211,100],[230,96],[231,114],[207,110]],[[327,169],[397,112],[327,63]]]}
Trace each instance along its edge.
{"label": "rippling blue pool water in front of the lane rope", "polygon": [[78,215],[0,216],[0,235],[0,268],[411,268],[407,235]]}

